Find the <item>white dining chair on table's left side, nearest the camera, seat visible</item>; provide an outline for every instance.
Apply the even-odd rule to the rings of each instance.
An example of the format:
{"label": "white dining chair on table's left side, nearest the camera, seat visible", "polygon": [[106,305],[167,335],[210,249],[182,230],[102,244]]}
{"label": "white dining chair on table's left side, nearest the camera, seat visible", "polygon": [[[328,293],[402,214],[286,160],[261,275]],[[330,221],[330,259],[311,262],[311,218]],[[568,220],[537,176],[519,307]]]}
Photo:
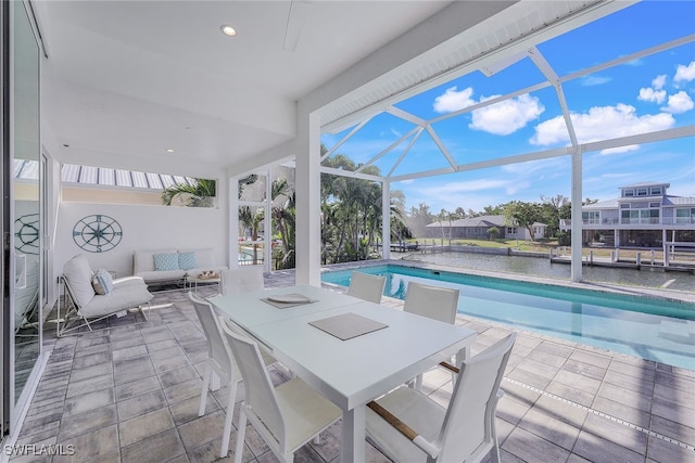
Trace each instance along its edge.
{"label": "white dining chair on table's left side, nearest the camera, seat visible", "polygon": [[242,459],[247,420],[279,460],[292,462],[294,452],[340,419],[342,411],[299,377],[274,387],[257,344],[227,320],[220,321],[244,378],[235,463]]}

